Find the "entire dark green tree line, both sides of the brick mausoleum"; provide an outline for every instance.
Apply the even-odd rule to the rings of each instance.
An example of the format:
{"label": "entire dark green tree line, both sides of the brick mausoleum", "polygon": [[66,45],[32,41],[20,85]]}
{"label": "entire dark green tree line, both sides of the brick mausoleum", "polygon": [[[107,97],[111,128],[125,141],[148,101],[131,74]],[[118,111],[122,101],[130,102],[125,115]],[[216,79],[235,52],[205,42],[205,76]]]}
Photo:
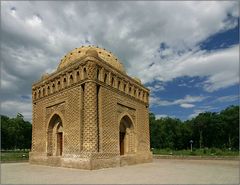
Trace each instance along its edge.
{"label": "entire dark green tree line, both sides of the brick mausoleum", "polygon": [[[181,150],[190,148],[239,149],[239,106],[230,106],[221,112],[204,112],[181,121],[177,118],[156,119],[149,114],[151,148]],[[1,116],[1,148],[30,149],[32,124],[23,115],[15,118]]]}

